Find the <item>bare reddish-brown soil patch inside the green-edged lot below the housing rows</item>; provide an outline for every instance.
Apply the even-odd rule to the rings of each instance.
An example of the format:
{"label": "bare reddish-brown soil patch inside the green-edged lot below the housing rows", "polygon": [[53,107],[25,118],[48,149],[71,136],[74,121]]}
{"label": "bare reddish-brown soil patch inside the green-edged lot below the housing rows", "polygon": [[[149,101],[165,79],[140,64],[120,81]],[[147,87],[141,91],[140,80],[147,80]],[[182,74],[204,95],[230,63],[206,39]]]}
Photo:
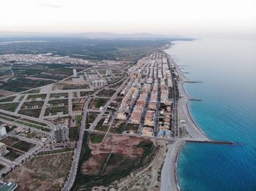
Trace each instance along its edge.
{"label": "bare reddish-brown soil patch inside the green-edged lot below the housing rows", "polygon": [[[83,174],[111,174],[140,162],[144,149],[140,143],[151,141],[128,136],[108,136],[103,144],[89,144],[89,160],[82,165]],[[100,173],[100,174],[99,174]]]}

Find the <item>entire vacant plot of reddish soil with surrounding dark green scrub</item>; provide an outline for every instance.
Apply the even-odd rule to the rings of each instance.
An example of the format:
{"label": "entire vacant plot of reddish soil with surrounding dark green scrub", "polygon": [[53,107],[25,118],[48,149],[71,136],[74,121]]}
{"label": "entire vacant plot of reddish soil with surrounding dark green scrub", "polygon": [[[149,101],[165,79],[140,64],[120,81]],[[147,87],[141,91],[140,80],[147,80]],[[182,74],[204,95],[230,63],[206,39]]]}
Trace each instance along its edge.
{"label": "entire vacant plot of reddish soil with surrounding dark green scrub", "polygon": [[78,171],[75,190],[108,186],[114,180],[127,176],[131,171],[149,163],[156,147],[146,139],[107,136],[102,144],[85,144],[83,149],[81,157],[84,160],[79,165],[81,171]]}

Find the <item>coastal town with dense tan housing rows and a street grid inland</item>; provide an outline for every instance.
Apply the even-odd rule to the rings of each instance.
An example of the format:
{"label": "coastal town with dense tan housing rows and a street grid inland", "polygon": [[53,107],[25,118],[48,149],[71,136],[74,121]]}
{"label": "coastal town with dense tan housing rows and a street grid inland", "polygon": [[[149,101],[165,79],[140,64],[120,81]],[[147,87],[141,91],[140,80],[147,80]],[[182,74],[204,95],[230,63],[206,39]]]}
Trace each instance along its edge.
{"label": "coastal town with dense tan housing rows and a street grid inland", "polygon": [[[36,160],[34,163],[40,168],[44,164],[37,159],[49,158],[54,153],[59,157],[50,157],[49,160],[66,160],[61,187],[70,190],[78,168],[81,168],[78,165],[80,152],[84,147],[83,137],[88,133],[91,145],[103,144],[108,139],[118,140],[118,135],[129,140],[171,141],[187,133],[176,119],[178,74],[170,56],[160,49],[136,64],[128,61],[101,61],[96,64],[76,58],[55,57],[50,53],[1,55],[2,63],[10,61],[20,64],[19,67],[29,62],[53,61],[63,65],[70,63],[73,67],[69,65],[72,69],[69,77],[0,99],[0,120],[3,122],[0,173],[10,181],[4,186],[25,187],[20,181],[12,181],[12,176],[21,178],[15,172],[23,171],[23,166],[31,163],[31,159]],[[150,147],[154,153],[156,147]],[[117,151],[110,149],[108,152],[110,156]]]}

